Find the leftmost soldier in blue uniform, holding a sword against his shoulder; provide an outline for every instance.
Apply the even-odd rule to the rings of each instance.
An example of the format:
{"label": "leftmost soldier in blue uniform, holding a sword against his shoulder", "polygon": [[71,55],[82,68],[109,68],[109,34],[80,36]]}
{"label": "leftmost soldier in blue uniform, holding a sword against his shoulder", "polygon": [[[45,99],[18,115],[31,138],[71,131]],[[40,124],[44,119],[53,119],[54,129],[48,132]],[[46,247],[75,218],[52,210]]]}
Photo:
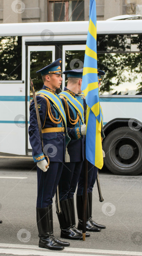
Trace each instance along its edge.
{"label": "leftmost soldier in blue uniform, holding a sword against his shoulder", "polygon": [[39,247],[62,250],[69,246],[68,242],[62,242],[53,235],[52,198],[62,173],[63,164],[67,159],[66,145],[70,141],[67,135],[66,114],[62,101],[55,93],[62,83],[61,59],[54,61],[45,68],[40,69],[44,82],[42,90],[36,94],[40,121],[42,125],[44,154],[50,159],[47,169],[47,161],[42,152],[35,103],[30,105],[29,140],[32,146],[32,156],[37,163],[38,196],[36,205],[37,225],[39,231]]}

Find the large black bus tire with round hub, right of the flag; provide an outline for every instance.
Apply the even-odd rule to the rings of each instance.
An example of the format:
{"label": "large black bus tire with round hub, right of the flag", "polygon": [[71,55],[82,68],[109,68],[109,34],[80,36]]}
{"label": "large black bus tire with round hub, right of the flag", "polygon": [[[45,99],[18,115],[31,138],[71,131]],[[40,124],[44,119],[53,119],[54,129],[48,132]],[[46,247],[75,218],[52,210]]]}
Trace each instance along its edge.
{"label": "large black bus tire with round hub, right of the flag", "polygon": [[129,127],[113,130],[104,139],[104,164],[115,174],[142,173],[142,132]]}

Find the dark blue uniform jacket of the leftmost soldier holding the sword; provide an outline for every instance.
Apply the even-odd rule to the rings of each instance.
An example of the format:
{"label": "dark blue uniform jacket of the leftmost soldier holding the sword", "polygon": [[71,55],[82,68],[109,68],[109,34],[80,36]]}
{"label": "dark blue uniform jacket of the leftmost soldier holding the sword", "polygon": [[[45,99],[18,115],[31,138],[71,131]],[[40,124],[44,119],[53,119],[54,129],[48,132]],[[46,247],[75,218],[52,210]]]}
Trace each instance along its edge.
{"label": "dark blue uniform jacket of the leftmost soldier holding the sword", "polygon": [[[49,89],[46,86],[43,86],[43,89],[50,90],[53,93],[55,93],[53,90]],[[59,124],[55,124],[50,120],[50,117],[48,115],[48,106],[47,106],[46,96],[42,94],[37,95],[36,99],[38,102],[42,129],[64,127],[63,121],[61,121]],[[51,107],[51,112],[53,116],[56,119],[59,119],[59,112],[53,106],[53,103],[51,101],[50,101],[50,107]],[[29,141],[32,146],[33,160],[34,162],[42,161],[44,157],[43,158],[40,157],[43,153],[42,153],[42,146],[40,142],[34,101],[31,102],[29,110],[30,110]],[[64,156],[65,156],[65,148],[66,148],[65,132],[45,132],[45,133],[42,133],[42,136],[43,136],[44,153],[49,157],[50,161],[63,162]],[[59,150],[59,149],[62,149],[62,150]]]}

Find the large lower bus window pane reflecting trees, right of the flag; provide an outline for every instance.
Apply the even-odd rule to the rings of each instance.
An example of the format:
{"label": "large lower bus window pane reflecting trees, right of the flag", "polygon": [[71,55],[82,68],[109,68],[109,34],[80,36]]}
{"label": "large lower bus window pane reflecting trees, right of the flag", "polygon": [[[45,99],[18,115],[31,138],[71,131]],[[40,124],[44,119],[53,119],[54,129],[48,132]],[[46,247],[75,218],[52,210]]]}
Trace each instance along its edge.
{"label": "large lower bus window pane reflecting trees, right of the flag", "polygon": [[99,53],[98,68],[106,72],[100,92],[135,95],[142,91],[141,60],[142,53]]}

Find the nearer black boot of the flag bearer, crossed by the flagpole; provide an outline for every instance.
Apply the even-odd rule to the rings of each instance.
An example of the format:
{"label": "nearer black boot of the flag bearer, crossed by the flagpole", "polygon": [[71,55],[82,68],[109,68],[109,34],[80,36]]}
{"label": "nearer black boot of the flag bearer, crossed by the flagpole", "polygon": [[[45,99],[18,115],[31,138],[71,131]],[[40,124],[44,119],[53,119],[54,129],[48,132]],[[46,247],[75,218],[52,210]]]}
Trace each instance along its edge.
{"label": "nearer black boot of the flag bearer, crossed by the flagpole", "polygon": [[[88,195],[87,195],[88,197]],[[82,219],[83,219],[83,196],[82,195],[76,195],[76,208],[78,213],[78,229],[82,230]],[[87,212],[86,212],[86,231],[91,232],[99,232],[101,229],[98,227],[93,226],[89,221],[89,203],[87,198]]]}

